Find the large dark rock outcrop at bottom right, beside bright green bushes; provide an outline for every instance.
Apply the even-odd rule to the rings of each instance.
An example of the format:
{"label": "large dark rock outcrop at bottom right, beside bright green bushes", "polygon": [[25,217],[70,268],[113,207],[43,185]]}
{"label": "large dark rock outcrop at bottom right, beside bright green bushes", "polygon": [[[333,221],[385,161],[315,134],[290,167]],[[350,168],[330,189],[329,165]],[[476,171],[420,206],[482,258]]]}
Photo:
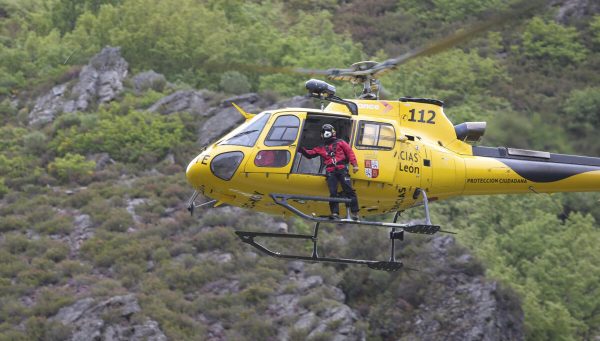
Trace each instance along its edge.
{"label": "large dark rock outcrop at bottom right, beside bright green bushes", "polygon": [[405,300],[395,305],[408,317],[400,327],[403,339],[523,340],[523,311],[516,295],[486,280],[471,255],[457,254],[454,238],[435,237],[429,246],[423,252],[438,265],[426,288],[431,293],[417,307]]}

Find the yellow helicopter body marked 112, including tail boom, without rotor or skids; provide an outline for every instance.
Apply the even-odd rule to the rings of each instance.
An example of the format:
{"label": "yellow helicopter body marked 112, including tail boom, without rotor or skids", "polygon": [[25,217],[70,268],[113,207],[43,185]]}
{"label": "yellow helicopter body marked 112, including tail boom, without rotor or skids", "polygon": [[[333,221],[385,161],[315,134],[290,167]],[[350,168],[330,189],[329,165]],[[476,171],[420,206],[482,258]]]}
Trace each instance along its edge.
{"label": "yellow helicopter body marked 112, including tail boom, without rotor or skids", "polygon": [[[194,158],[188,182],[220,203],[290,214],[269,194],[329,195],[323,165],[304,159],[299,148],[322,143],[318,128],[330,123],[356,154],[359,172],[351,177],[364,216],[415,206],[419,189],[430,200],[600,191],[599,158],[474,147],[457,138],[435,100],[352,102],[358,115],[337,103],[325,110],[286,108],[255,115]],[[292,205],[307,214],[329,214],[324,202]]]}

